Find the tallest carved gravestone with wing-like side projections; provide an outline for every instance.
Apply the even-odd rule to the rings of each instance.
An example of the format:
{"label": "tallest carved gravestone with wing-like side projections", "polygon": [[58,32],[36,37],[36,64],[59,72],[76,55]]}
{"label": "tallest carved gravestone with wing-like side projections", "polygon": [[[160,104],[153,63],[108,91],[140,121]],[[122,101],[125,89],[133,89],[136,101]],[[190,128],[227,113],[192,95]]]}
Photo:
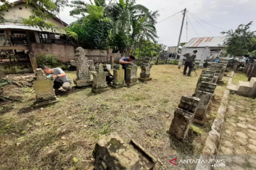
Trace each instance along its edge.
{"label": "tallest carved gravestone with wing-like side projections", "polygon": [[93,61],[87,60],[85,57],[85,51],[82,47],[78,47],[75,50],[75,61],[71,60],[70,64],[77,69],[77,78],[74,79],[76,86],[90,86],[92,85],[90,67],[93,67]]}

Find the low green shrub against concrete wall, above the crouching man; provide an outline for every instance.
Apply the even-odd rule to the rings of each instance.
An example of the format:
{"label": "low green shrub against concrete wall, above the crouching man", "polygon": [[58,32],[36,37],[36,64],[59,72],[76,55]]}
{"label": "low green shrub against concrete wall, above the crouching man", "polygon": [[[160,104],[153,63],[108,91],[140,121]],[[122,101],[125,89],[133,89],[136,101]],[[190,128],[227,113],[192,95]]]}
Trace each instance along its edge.
{"label": "low green shrub against concrete wall, above the crouching man", "polygon": [[60,62],[58,62],[54,55],[43,55],[43,53],[36,57],[36,61],[38,66],[58,67],[60,65]]}

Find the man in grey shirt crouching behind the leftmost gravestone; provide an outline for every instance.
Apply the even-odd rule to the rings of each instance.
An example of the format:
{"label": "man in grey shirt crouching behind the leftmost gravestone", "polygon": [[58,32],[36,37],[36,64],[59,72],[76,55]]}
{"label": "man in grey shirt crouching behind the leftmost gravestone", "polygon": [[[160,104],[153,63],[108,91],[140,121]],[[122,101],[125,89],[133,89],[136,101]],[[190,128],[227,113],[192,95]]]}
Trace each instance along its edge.
{"label": "man in grey shirt crouching behind the leftmost gravestone", "polygon": [[46,76],[50,75],[50,78],[55,79],[53,84],[53,89],[58,90],[62,86],[65,91],[71,90],[71,80],[68,78],[67,74],[60,68],[50,69],[47,66],[41,66],[43,72]]}

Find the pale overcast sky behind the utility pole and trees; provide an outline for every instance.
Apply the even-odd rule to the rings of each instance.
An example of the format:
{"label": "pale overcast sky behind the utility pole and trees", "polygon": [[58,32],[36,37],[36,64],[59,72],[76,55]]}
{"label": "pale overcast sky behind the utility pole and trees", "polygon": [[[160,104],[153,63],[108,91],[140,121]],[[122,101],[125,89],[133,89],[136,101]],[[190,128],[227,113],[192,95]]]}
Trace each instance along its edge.
{"label": "pale overcast sky behind the utility pole and trees", "polygon": [[[85,1],[89,2],[88,0]],[[188,42],[191,38],[197,37],[223,36],[220,33],[223,31],[222,29],[235,30],[240,24],[247,24],[250,21],[254,21],[251,30],[256,30],[255,0],[137,0],[137,4],[146,6],[150,11],[159,11],[158,21],[162,21],[187,8],[188,19],[185,18],[184,21],[181,42]],[[72,23],[76,20],[76,18],[69,16],[71,9],[65,7],[60,12],[60,19],[65,23]],[[157,23],[156,30],[159,36],[157,41],[168,47],[177,46],[182,18],[182,13],[178,13],[166,21]]]}

